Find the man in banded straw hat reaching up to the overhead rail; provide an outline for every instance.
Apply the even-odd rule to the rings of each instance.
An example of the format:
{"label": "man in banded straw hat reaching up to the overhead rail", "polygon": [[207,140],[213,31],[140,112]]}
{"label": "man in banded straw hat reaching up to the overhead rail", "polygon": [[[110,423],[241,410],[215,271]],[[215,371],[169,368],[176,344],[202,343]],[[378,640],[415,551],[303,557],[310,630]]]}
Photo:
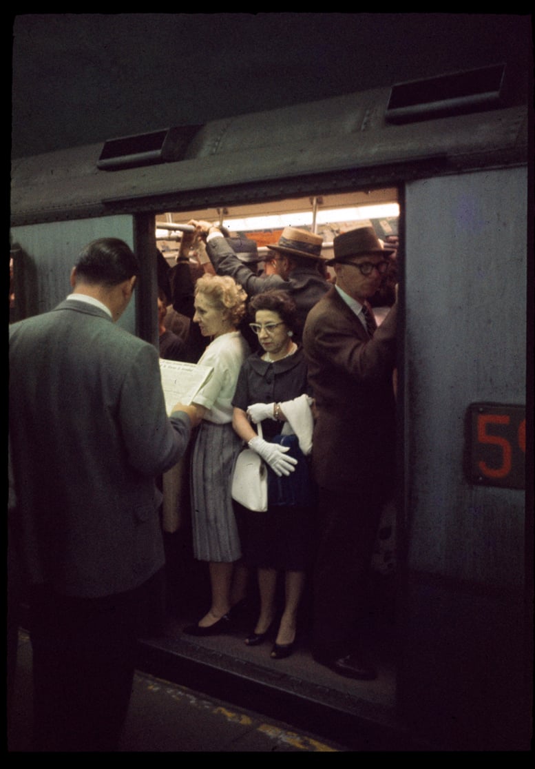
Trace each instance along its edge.
{"label": "man in banded straw hat reaching up to the overhead rail", "polygon": [[320,271],[323,261],[321,235],[285,227],[277,243],[268,246],[275,252],[271,259],[274,275],[254,275],[234,253],[221,228],[209,221],[191,221],[190,224],[206,238],[206,249],[216,273],[230,275],[243,286],[249,297],[271,289],[288,291],[297,307],[301,328],[308,311],[330,288],[331,284]]}

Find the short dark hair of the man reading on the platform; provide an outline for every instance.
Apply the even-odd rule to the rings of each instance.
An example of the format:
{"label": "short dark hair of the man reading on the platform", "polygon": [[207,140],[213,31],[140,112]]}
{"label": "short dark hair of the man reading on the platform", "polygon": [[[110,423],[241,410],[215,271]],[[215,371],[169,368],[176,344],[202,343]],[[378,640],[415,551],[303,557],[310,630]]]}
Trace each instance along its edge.
{"label": "short dark hair of the man reading on the platform", "polygon": [[114,286],[139,274],[138,260],[125,241],[99,238],[82,248],[76,275],[86,283]]}

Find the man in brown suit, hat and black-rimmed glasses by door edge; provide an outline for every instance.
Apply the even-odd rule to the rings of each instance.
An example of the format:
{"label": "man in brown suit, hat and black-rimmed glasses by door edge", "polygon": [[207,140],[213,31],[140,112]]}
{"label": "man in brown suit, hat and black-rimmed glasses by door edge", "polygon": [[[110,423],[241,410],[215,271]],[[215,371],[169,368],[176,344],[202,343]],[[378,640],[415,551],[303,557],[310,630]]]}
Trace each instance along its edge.
{"label": "man in brown suit, hat and black-rimmed glasses by door edge", "polygon": [[391,251],[373,227],[334,238],[336,284],[304,326],[314,389],[312,466],[318,493],[314,567],[314,659],[362,680],[377,676],[367,657],[367,582],[381,508],[394,482],[396,363],[394,302],[379,328],[367,305]]}

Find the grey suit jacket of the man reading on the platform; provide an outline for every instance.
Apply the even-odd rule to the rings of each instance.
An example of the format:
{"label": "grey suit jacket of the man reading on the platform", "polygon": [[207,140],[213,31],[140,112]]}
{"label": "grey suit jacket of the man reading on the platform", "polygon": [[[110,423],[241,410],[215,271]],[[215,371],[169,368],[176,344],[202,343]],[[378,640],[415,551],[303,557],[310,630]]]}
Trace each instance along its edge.
{"label": "grey suit jacket of the man reading on the platform", "polygon": [[99,597],[164,563],[155,475],[191,424],[168,418],[158,351],[73,299],[10,328],[13,536],[32,584]]}

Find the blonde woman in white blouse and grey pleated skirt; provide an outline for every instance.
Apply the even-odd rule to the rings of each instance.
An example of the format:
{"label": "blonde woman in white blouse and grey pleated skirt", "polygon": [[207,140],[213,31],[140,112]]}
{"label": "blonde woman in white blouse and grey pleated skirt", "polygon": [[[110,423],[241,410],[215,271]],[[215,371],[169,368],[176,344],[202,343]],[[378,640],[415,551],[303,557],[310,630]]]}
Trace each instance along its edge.
{"label": "blonde woman in white blouse and grey pleated skirt", "polygon": [[233,278],[203,275],[195,284],[194,323],[211,342],[198,361],[214,371],[194,398],[201,424],[191,457],[193,551],[207,561],[211,606],[191,635],[215,635],[231,629],[228,612],[244,598],[247,571],[235,568],[241,558],[231,498],[231,474],[241,441],[232,429],[232,398],[241,364],[250,348],[238,331],[247,295]]}

